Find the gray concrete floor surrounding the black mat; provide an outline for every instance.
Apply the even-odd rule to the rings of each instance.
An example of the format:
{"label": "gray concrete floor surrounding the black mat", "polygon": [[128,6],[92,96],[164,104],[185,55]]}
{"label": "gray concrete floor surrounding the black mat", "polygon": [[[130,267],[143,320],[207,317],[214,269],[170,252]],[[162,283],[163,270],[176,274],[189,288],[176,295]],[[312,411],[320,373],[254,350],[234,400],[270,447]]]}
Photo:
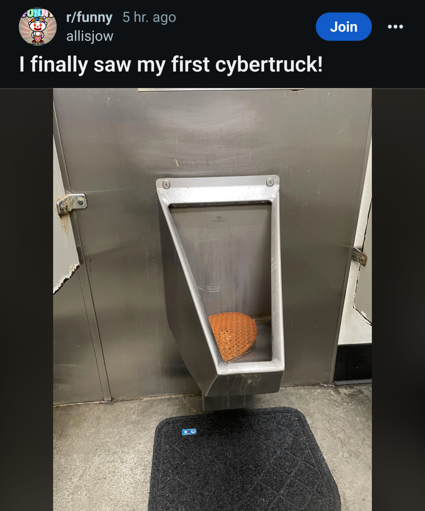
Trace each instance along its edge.
{"label": "gray concrete floor surrounding the black mat", "polygon": [[[290,387],[254,408],[291,406],[306,417],[341,495],[342,511],[371,503],[372,386]],[[54,408],[54,511],[145,511],[155,428],[202,413],[200,395]]]}

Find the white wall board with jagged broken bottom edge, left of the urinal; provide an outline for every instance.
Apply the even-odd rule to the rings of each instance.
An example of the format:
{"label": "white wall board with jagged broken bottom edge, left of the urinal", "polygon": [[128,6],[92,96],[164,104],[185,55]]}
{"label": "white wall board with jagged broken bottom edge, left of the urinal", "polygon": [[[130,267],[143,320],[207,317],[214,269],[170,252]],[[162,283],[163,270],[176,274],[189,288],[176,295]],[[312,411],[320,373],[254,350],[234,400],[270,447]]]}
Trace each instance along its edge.
{"label": "white wall board with jagged broken bottom edge, left of the urinal", "polygon": [[80,266],[69,214],[59,216],[56,202],[65,195],[58,154],[53,140],[53,293]]}

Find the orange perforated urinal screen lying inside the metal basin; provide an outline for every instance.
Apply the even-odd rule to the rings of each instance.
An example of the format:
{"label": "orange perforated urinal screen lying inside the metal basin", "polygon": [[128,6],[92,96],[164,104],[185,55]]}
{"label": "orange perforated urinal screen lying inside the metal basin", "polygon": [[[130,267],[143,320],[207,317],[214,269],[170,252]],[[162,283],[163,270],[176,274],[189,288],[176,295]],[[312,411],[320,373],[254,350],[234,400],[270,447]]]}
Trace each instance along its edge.
{"label": "orange perforated urinal screen lying inside the metal basin", "polygon": [[246,314],[222,312],[208,319],[223,360],[242,355],[255,341],[257,326]]}

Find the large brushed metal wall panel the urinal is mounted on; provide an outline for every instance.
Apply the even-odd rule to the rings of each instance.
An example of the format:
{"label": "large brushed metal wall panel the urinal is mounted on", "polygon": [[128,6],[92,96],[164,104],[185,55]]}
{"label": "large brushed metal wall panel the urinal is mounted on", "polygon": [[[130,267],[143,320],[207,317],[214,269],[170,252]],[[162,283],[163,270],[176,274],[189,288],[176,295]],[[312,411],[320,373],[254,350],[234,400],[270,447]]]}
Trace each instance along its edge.
{"label": "large brushed metal wall panel the urinal is mounted on", "polygon": [[369,89],[55,89],[113,398],[197,391],[168,328],[159,177],[280,178],[284,385],[328,382]]}

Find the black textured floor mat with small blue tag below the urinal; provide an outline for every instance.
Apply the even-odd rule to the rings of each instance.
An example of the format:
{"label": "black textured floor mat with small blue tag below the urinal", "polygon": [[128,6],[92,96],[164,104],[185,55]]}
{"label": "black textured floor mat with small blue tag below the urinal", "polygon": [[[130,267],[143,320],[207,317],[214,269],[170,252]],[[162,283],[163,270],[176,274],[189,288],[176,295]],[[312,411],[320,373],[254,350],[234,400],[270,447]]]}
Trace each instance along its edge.
{"label": "black textured floor mat with small blue tag below the urinal", "polygon": [[[182,435],[182,429],[196,434]],[[294,408],[172,417],[156,428],[149,511],[339,511],[337,485]]]}

